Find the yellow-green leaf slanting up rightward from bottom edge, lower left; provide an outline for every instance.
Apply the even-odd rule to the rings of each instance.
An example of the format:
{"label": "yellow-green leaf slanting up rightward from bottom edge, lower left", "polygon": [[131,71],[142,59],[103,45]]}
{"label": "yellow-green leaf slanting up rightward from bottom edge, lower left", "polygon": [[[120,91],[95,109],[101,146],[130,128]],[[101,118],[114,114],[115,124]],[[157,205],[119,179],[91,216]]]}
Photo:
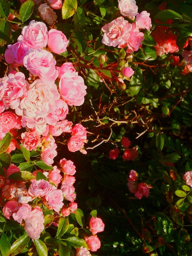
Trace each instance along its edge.
{"label": "yellow-green leaf slanting up rightward from bottom edge, lower left", "polygon": [[15,255],[19,254],[28,245],[29,240],[30,240],[30,237],[25,232],[25,234],[23,236],[18,238],[11,245],[10,251],[7,256],[15,256]]}

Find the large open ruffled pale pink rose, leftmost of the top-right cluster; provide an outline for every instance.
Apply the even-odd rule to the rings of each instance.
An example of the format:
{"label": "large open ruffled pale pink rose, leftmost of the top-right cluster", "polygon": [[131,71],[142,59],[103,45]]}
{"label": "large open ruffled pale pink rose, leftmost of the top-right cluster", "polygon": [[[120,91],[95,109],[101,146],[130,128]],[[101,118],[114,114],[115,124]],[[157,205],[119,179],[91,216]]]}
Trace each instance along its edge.
{"label": "large open ruffled pale pink rose, leftmost of the top-right cluster", "polygon": [[129,38],[129,31],[132,29],[132,24],[125,20],[122,16],[105,24],[101,30],[103,31],[102,43],[108,46],[116,47],[124,45]]}

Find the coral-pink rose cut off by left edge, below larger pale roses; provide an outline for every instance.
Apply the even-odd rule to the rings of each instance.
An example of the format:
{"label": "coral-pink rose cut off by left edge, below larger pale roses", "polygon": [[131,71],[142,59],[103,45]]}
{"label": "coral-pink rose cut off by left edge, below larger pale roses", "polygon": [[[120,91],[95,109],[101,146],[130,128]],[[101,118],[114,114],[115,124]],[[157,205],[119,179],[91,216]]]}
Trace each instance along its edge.
{"label": "coral-pink rose cut off by left edge, below larger pale roses", "polygon": [[0,113],[0,140],[9,132],[11,129],[21,129],[21,119],[11,111]]}

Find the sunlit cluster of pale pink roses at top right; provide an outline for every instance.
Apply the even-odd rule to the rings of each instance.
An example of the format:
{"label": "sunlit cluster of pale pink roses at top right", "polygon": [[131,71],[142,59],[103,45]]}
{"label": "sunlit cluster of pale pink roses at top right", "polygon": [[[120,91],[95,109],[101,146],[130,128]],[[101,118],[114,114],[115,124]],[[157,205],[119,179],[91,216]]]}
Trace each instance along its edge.
{"label": "sunlit cluster of pale pink roses at top right", "polygon": [[[135,0],[118,0],[118,9],[122,16],[102,27],[102,43],[118,48],[127,47],[127,54],[131,54],[138,51],[142,46],[141,42],[144,40],[144,34],[140,30],[147,29],[150,31],[152,27],[150,13],[147,13],[147,11],[138,13]],[[132,22],[125,20],[123,16],[132,20]]]}

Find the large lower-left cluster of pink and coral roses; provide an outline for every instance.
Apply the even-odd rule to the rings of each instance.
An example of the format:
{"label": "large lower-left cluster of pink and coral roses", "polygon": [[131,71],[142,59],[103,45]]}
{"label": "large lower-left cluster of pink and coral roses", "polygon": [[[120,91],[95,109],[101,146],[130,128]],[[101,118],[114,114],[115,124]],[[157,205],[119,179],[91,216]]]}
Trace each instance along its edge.
{"label": "large lower-left cluster of pink and coral roses", "polygon": [[[2,212],[7,219],[12,216],[15,221],[23,225],[32,240],[38,239],[45,228],[43,211],[39,206],[33,207],[33,201],[38,199],[38,202],[44,207],[61,213],[63,216],[69,216],[70,213],[76,212],[77,204],[74,202],[76,194],[73,186],[75,182],[73,175],[76,173],[76,168],[71,160],[61,159],[60,167],[53,166],[53,170],[49,172],[34,171],[32,174],[35,178],[30,182],[11,180],[11,174],[20,172],[20,169],[14,164],[3,169],[5,177],[0,176],[0,188],[2,199],[6,202]],[[45,175],[47,180],[36,180],[37,172]]]}

